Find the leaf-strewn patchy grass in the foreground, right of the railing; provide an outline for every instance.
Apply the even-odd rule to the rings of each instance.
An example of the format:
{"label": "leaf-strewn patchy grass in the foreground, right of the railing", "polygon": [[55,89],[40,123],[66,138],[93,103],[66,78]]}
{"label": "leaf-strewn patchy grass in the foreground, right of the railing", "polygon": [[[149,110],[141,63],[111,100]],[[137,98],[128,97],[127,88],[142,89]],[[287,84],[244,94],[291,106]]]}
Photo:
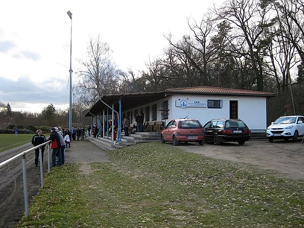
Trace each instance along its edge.
{"label": "leaf-strewn patchy grass in the foreground, right of the railing", "polygon": [[[303,227],[304,182],[141,143],[47,174],[18,227]],[[85,170],[85,172],[84,172]]]}

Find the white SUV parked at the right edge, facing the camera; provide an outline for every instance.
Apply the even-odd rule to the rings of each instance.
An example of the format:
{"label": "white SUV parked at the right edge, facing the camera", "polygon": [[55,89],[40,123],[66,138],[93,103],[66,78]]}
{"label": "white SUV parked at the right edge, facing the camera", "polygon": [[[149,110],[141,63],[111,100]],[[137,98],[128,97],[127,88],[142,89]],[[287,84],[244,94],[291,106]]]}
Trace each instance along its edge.
{"label": "white SUV parked at the right edge, facing the camera", "polygon": [[267,137],[270,142],[274,139],[288,139],[292,138],[294,142],[297,141],[299,135],[304,133],[304,117],[303,116],[286,116],[279,117],[275,122],[267,128]]}

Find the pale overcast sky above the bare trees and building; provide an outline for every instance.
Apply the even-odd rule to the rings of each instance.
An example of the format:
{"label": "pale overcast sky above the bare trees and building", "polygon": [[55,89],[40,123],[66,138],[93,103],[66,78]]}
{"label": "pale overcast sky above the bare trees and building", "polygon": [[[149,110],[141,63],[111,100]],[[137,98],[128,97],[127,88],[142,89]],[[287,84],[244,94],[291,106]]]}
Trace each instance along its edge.
{"label": "pale overcast sky above the bare trees and building", "polygon": [[191,31],[212,3],[202,0],[3,1],[0,7],[0,101],[13,110],[40,112],[69,103],[70,25],[72,69],[85,56],[90,37],[101,36],[122,70],[137,75],[145,62]]}

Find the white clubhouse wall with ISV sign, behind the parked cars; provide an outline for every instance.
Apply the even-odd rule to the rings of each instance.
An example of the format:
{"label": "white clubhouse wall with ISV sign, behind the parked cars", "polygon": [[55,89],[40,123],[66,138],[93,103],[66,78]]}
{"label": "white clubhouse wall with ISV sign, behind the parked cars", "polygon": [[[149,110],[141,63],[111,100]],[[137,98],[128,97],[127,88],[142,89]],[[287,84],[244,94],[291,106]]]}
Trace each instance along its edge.
{"label": "white clubhouse wall with ISV sign, behind the parked cars", "polygon": [[[209,100],[222,100],[222,108],[207,108],[207,107],[176,107],[175,101],[177,100],[199,100],[205,102]],[[169,116],[168,120],[164,120],[167,124],[172,119],[177,118],[193,118],[198,119],[203,125],[212,119],[225,118],[229,119],[229,105],[230,100],[238,101],[238,118],[243,120],[251,130],[265,131],[267,128],[266,120],[266,98],[265,97],[247,97],[247,96],[214,96],[214,95],[173,95],[166,97],[157,102],[151,102],[137,108],[133,108],[130,111],[133,112],[132,124],[136,124],[134,110],[137,109],[140,113],[140,109],[145,111],[146,106],[150,106],[150,121],[152,116],[152,105],[157,104],[157,110],[162,109],[163,102],[169,101]],[[127,113],[127,112],[125,112]],[[146,113],[145,113],[146,117]],[[161,121],[161,111],[157,111],[157,121]]]}

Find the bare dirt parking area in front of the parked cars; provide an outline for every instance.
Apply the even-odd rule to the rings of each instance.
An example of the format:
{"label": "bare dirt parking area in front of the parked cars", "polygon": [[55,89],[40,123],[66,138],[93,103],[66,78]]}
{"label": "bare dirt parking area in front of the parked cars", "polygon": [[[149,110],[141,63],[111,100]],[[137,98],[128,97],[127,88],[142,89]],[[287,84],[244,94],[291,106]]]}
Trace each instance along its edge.
{"label": "bare dirt parking area in front of the parked cars", "polygon": [[221,145],[205,143],[203,146],[197,143],[180,145],[181,149],[188,152],[215,159],[249,163],[263,169],[275,170],[278,177],[304,180],[304,145],[301,145],[301,141],[247,141],[244,145],[237,142]]}

